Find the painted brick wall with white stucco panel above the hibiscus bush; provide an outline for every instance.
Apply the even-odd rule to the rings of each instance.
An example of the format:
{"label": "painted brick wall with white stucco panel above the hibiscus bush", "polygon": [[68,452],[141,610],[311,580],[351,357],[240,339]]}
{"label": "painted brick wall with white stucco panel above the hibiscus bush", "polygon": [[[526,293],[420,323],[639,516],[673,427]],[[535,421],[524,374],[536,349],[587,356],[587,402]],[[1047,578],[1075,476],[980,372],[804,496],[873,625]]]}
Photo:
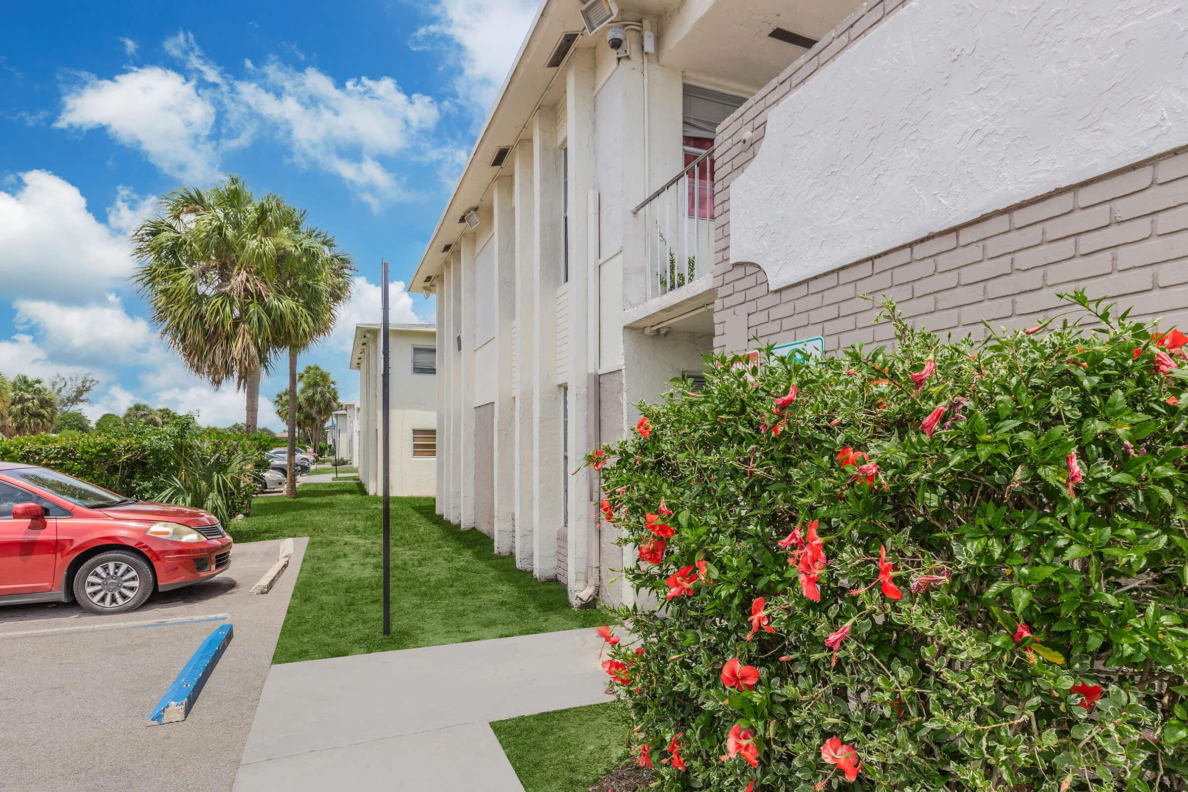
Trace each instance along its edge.
{"label": "painted brick wall with white stucco panel above the hibiscus bush", "polygon": [[714,347],[981,337],[1059,292],[1188,324],[1188,6],[880,0],[719,128]]}

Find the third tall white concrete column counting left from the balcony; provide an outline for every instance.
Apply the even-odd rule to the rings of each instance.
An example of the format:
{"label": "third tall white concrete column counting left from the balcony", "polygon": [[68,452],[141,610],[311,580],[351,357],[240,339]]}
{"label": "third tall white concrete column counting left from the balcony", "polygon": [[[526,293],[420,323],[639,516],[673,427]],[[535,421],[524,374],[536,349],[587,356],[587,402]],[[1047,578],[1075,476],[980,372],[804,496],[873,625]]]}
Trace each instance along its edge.
{"label": "third tall white concrete column counting left from the balcony", "polygon": [[516,336],[519,372],[516,378],[516,568],[532,569],[532,528],[536,509],[532,499],[532,477],[536,456],[532,445],[533,382],[536,370],[536,270],[533,267],[532,142],[516,146],[516,179],[512,199],[516,203]]}

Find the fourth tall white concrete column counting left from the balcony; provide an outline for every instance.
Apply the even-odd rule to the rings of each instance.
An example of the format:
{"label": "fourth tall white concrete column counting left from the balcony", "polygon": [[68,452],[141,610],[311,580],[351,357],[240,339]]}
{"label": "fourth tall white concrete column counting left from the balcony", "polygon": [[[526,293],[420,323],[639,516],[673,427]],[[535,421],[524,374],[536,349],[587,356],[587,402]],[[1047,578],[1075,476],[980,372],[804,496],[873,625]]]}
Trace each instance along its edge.
{"label": "fourth tall white concrete column counting left from the balcony", "polygon": [[[516,209],[512,177],[494,189],[495,246],[495,406],[494,505],[495,555],[512,551],[516,531],[516,403],[512,394],[512,324],[516,321]],[[481,298],[481,296],[480,296]]]}

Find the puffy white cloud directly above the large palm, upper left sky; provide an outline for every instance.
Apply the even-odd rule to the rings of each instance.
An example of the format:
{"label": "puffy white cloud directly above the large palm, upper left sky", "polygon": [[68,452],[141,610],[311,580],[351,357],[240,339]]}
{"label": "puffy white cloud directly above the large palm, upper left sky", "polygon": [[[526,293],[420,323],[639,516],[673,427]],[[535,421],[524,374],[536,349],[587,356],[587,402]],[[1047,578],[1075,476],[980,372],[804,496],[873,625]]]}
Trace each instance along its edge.
{"label": "puffy white cloud directly above the large palm, upper left sky", "polygon": [[215,107],[196,82],[176,71],[143,66],[113,80],[84,75],[63,99],[56,127],[103,127],[181,179],[206,182],[219,175],[219,152],[210,139]]}

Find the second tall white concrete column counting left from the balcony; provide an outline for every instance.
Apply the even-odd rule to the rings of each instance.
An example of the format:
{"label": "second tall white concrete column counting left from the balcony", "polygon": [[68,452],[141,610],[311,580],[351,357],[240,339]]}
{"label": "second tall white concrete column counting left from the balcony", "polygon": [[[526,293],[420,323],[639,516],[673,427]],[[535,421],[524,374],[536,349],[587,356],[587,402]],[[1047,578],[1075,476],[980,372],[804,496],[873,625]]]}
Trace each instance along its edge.
{"label": "second tall white concrete column counting left from the balcony", "polygon": [[562,524],[561,398],[557,391],[557,289],[562,277],[561,151],[557,116],[542,107],[532,119],[532,268],[537,316],[532,355],[532,572],[557,576],[557,531]]}

